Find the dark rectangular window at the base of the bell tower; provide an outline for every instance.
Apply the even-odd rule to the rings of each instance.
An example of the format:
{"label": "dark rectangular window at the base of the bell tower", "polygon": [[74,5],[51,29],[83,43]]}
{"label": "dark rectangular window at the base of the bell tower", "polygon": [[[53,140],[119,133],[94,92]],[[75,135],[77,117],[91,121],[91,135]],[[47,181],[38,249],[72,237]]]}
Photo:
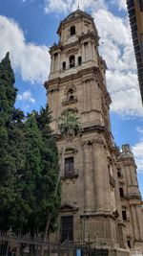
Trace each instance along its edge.
{"label": "dark rectangular window at the base of the bell tower", "polygon": [[73,241],[73,216],[61,217],[61,243],[65,240]]}

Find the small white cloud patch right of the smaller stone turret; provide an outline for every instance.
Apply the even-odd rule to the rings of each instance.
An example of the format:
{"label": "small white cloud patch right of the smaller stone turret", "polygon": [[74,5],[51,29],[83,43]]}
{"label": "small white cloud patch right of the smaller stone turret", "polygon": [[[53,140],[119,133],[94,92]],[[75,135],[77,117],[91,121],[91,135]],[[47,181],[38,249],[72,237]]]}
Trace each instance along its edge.
{"label": "small white cloud patch right of the smaller stone turret", "polygon": [[143,173],[143,141],[138,142],[132,148],[138,173]]}

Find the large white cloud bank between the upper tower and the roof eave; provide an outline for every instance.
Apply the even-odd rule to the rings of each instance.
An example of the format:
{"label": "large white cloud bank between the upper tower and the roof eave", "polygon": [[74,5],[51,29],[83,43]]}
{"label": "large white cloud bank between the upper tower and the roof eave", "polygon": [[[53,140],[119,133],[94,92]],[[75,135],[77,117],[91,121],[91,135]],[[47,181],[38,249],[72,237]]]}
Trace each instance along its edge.
{"label": "large white cloud bank between the upper tower and the roof eave", "polygon": [[108,10],[92,13],[100,36],[100,55],[105,59],[111,109],[123,116],[143,116],[130,24]]}

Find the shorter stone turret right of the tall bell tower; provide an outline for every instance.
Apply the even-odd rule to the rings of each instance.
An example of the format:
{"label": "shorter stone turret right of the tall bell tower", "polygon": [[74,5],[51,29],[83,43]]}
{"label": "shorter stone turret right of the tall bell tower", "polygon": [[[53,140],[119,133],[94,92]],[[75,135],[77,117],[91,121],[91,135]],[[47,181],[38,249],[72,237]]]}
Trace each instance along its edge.
{"label": "shorter stone turret right of the tall bell tower", "polygon": [[129,145],[123,145],[118,156],[119,193],[122,206],[122,218],[126,224],[127,243],[130,248],[143,251],[143,214],[141,196],[138,188],[136,165]]}

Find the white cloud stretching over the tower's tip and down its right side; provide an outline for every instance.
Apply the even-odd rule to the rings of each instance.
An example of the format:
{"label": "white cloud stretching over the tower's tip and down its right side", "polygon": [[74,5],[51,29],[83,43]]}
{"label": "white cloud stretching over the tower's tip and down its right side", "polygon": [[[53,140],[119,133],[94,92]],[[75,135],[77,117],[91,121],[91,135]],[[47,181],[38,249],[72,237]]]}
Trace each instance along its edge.
{"label": "white cloud stretching over the tower's tip and down its right side", "polygon": [[[106,60],[107,86],[112,96],[112,112],[123,116],[143,116],[136,75],[133,39],[128,16],[116,16],[110,7],[126,10],[126,1],[79,1],[81,10],[91,9],[100,36],[99,53]],[[46,0],[47,12],[72,12],[78,1]]]}

